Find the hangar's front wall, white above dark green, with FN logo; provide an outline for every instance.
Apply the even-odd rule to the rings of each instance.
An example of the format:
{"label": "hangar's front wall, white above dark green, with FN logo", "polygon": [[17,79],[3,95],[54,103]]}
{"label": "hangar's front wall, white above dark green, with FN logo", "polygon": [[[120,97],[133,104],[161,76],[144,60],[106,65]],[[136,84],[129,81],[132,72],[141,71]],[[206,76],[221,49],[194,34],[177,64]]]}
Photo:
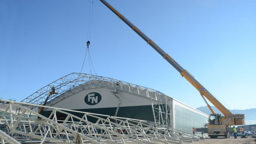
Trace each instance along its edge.
{"label": "hangar's front wall, white above dark green, with FN logo", "polygon": [[[117,113],[118,117],[154,121],[151,102],[156,105],[156,101],[122,91],[116,93],[119,97],[117,98],[111,91],[113,90],[109,88],[85,89],[47,106],[114,116],[120,99],[122,104]],[[50,112],[51,110],[46,108],[43,115],[49,116]]]}

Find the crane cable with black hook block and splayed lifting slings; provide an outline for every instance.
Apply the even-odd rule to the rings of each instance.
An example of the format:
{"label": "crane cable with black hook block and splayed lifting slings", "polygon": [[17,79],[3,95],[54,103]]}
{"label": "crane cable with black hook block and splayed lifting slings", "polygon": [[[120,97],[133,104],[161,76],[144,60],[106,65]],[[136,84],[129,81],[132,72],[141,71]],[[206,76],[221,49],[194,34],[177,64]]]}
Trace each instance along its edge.
{"label": "crane cable with black hook block and splayed lifting slings", "polygon": [[[85,53],[85,58],[86,58],[86,55],[87,55],[87,51],[88,51],[88,58],[89,58],[89,67],[90,67],[90,62],[92,63],[92,59],[91,59],[91,56],[90,56],[90,50],[89,50],[89,45],[90,45],[90,38],[91,38],[91,29],[92,29],[92,13],[91,13],[91,4],[92,4],[92,12],[93,12],[93,0],[90,1],[90,10],[89,10],[89,19],[88,19],[88,31],[87,31],[87,49],[86,49],[86,53]],[[90,35],[89,35],[89,28],[90,28]],[[89,36],[88,36],[89,35]],[[89,37],[89,40],[88,40],[88,37]],[[83,60],[83,65],[85,63],[85,58]],[[82,72],[83,70],[83,65],[82,65],[82,68],[81,68],[81,71],[80,73]],[[94,69],[94,66],[92,64],[92,67],[93,67],[93,70],[95,72],[95,69]],[[90,67],[90,73],[92,74],[92,71],[91,71],[91,67]],[[97,73],[95,72],[95,74],[97,75]]]}

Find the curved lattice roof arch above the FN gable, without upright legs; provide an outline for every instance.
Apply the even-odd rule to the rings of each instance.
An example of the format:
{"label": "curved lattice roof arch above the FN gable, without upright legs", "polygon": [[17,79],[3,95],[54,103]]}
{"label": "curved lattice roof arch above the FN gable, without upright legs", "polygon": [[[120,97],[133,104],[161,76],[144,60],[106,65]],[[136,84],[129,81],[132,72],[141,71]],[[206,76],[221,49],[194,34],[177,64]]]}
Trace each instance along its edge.
{"label": "curved lattice roof arch above the FN gable, without upright legs", "polygon": [[111,79],[108,77],[102,77],[91,74],[71,73],[48,84],[47,86],[44,86],[43,88],[40,88],[38,91],[28,96],[21,102],[43,105],[47,96],[49,95],[49,92],[51,91],[52,86],[55,86],[55,92],[57,92],[58,94],[51,95],[50,98],[47,100],[48,102],[50,100],[57,98],[59,95],[62,95],[67,91],[70,92],[68,96],[77,93],[78,91],[71,91],[74,88],[80,88],[79,91],[91,88],[91,86],[93,86],[93,88],[104,87],[114,89],[116,88],[116,83],[119,83],[119,91],[130,92],[134,95],[140,95],[154,100],[162,100],[162,98],[164,98],[163,100],[165,102],[168,102],[166,98],[171,98],[168,95],[165,95],[164,93],[153,90],[151,88],[130,84],[117,79]]}

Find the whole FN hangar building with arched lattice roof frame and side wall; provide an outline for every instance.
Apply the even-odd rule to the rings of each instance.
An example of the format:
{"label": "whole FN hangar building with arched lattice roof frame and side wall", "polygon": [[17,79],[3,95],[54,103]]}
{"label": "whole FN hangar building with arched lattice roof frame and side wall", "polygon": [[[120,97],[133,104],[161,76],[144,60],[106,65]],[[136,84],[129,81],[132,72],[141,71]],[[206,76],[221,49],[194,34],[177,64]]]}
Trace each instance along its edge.
{"label": "whole FN hangar building with arched lattice roof frame and side wall", "polygon": [[[52,86],[58,94],[49,95]],[[191,133],[193,127],[204,127],[209,117],[154,89],[82,73],[66,75],[21,102],[36,105],[46,102],[50,107],[152,121]],[[50,112],[51,109],[43,109],[45,116]]]}

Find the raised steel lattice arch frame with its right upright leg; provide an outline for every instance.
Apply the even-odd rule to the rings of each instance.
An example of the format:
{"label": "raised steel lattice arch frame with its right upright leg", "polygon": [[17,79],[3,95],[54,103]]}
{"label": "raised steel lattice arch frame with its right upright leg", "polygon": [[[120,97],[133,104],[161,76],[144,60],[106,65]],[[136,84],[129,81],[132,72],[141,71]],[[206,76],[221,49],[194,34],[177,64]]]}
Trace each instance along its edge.
{"label": "raised steel lattice arch frame with its right upright leg", "polygon": [[[117,83],[119,84],[118,88],[116,88]],[[58,102],[59,100],[64,99],[70,95],[78,93],[79,91],[83,91],[85,89],[90,88],[102,87],[118,89],[118,91],[132,93],[133,95],[139,95],[149,98],[151,102],[155,101],[158,103],[158,105],[153,105],[152,102],[152,111],[154,111],[154,121],[173,128],[173,99],[168,95],[165,95],[164,93],[143,86],[137,86],[135,84],[130,84],[124,81],[119,81],[116,79],[91,74],[71,73],[41,88],[40,90],[28,96],[21,102],[35,105],[43,105],[45,99],[51,91],[52,86],[55,86],[55,92],[57,92],[58,94],[50,96],[48,100],[48,106],[51,106],[55,102]],[[40,109],[40,107],[35,106],[30,106],[29,108],[33,109],[34,111],[39,111]]]}

